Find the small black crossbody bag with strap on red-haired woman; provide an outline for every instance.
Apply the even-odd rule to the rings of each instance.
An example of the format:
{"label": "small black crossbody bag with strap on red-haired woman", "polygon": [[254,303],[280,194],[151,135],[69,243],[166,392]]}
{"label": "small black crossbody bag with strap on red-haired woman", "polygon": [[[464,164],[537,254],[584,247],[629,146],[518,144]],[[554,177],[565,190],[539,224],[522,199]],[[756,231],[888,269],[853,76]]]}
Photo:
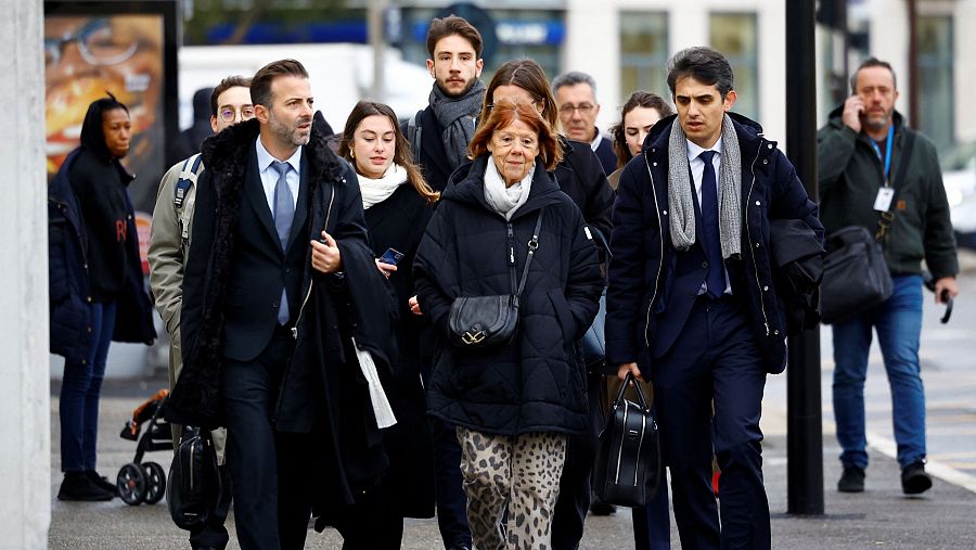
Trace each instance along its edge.
{"label": "small black crossbody bag with strap on red-haired woman", "polygon": [[[464,349],[490,349],[511,343],[518,332],[518,300],[528,278],[528,268],[539,247],[539,231],[542,229],[542,213],[536,220],[536,230],[528,243],[528,255],[522,270],[522,282],[515,281],[515,256],[510,256],[509,272],[512,276],[513,294],[495,296],[461,296],[451,303],[448,316],[450,340],[454,346]],[[513,236],[510,236],[510,250],[514,248]],[[517,286],[517,289],[516,289]]]}

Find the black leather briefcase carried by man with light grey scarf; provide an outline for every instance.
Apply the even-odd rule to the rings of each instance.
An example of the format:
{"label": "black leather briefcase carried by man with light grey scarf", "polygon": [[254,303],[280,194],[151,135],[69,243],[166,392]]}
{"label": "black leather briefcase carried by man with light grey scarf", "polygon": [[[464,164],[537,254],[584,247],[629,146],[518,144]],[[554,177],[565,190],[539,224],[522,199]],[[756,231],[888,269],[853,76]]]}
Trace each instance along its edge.
{"label": "black leather briefcase carried by man with light grey scarf", "polygon": [[[624,397],[631,382],[639,402]],[[657,423],[644,400],[644,393],[628,373],[600,434],[593,491],[604,502],[622,507],[644,507],[660,484],[660,444]]]}

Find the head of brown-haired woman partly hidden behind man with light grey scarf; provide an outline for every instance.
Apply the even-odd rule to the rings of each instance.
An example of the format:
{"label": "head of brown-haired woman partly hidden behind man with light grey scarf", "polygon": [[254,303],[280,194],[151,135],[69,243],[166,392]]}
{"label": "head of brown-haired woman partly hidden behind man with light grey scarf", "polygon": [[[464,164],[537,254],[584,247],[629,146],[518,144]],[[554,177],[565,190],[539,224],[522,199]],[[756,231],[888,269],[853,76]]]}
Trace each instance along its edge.
{"label": "head of brown-haired woman partly hidden behind man with light grey scarf", "polygon": [[611,136],[614,137],[614,153],[617,154],[617,169],[606,177],[614,190],[620,180],[620,172],[627,163],[641,154],[644,138],[651,133],[651,128],[662,118],[675,114],[675,110],[660,95],[638,90],[627,98],[620,110],[620,121],[611,126]]}

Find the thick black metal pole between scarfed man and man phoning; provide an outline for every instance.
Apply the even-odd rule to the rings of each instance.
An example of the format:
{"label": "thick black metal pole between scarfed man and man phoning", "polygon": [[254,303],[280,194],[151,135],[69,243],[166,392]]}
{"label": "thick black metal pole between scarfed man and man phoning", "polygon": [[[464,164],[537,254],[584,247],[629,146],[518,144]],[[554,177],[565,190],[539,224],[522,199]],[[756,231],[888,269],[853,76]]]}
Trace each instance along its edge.
{"label": "thick black metal pole between scarfed man and man phoning", "polygon": [[[786,0],[786,152],[817,201],[814,2]],[[820,333],[788,340],[786,369],[787,513],[823,514]]]}

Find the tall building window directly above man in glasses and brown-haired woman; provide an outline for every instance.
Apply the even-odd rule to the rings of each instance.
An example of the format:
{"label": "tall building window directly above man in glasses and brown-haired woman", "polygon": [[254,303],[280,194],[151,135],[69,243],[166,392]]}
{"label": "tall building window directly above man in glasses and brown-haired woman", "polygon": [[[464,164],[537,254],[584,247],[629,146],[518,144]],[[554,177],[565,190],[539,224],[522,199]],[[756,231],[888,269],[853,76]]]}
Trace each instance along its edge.
{"label": "tall building window directly above man in glasses and brown-haired woman", "polygon": [[668,91],[668,15],[620,12],[620,104],[637,90]]}

